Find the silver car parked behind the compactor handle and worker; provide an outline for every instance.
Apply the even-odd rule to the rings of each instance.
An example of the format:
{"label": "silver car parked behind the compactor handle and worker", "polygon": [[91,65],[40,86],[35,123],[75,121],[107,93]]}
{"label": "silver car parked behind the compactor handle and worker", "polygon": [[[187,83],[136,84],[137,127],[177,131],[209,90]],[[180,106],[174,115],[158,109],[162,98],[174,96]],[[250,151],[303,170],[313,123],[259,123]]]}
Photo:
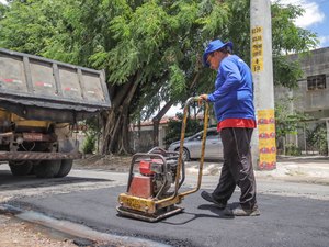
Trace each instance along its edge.
{"label": "silver car parked behind the compactor handle and worker", "polygon": [[[188,161],[190,159],[197,159],[201,157],[201,146],[202,146],[203,131],[196,133],[193,136],[186,137],[184,139],[183,147],[183,160]],[[168,150],[179,151],[180,141],[170,144]],[[205,146],[205,159],[223,159],[223,144],[220,135],[218,134],[216,127],[211,127],[207,130],[207,138]]]}

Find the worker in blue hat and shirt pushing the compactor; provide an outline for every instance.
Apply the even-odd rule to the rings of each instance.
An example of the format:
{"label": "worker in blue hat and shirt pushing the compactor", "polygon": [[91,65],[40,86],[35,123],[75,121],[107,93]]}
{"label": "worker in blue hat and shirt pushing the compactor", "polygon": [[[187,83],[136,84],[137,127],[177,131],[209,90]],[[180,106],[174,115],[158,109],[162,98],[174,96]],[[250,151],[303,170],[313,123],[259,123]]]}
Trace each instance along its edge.
{"label": "worker in blue hat and shirt pushing the compactor", "polygon": [[[217,71],[215,90],[201,94],[200,100],[214,103],[217,131],[223,142],[224,164],[217,187],[212,193],[202,191],[204,200],[217,204],[229,216],[260,215],[256,199],[250,141],[256,127],[253,82],[248,65],[232,55],[232,43],[212,41],[203,64]],[[228,206],[236,186],[241,194],[237,206]],[[232,203],[231,205],[235,205]]]}

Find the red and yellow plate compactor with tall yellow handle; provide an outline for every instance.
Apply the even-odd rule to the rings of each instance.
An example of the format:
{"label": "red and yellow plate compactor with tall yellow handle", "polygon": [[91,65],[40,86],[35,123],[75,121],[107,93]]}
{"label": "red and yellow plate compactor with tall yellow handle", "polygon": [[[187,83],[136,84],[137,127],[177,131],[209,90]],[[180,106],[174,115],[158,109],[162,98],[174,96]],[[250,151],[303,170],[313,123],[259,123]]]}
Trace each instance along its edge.
{"label": "red and yellow plate compactor with tall yellow handle", "polygon": [[185,195],[196,192],[202,180],[206,131],[208,125],[208,103],[204,103],[204,132],[202,138],[198,178],[195,188],[181,191],[185,179],[185,166],[182,159],[188,112],[191,102],[198,98],[190,98],[184,106],[181,128],[180,149],[167,151],[155,147],[148,153],[133,156],[127,190],[118,195],[118,215],[147,222],[157,222],[183,211],[177,206]]}

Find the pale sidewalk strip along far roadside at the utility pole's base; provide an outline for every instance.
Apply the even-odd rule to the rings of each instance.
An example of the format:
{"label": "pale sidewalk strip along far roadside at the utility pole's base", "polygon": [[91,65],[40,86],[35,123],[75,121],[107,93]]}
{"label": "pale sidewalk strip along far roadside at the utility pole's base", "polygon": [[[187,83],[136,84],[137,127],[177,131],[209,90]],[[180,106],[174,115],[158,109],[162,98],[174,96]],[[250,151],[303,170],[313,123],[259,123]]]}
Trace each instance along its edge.
{"label": "pale sidewalk strip along far roadside at the utility pole's base", "polygon": [[[219,164],[219,166],[218,166]],[[223,161],[204,164],[204,176],[219,176]],[[186,172],[197,173],[198,161],[186,162]],[[272,179],[329,186],[329,158],[322,156],[277,157],[276,169],[254,170],[257,179]]]}

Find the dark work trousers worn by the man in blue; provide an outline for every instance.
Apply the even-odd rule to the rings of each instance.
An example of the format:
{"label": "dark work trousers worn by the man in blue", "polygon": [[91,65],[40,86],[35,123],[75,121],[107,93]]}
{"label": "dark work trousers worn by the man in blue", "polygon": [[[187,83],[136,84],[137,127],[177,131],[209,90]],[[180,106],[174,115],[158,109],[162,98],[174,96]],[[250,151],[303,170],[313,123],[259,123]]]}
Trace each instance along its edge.
{"label": "dark work trousers worn by the man in blue", "polygon": [[250,141],[252,128],[229,127],[220,131],[224,147],[224,164],[219,183],[213,198],[227,203],[236,186],[241,189],[240,204],[242,209],[257,206],[256,180],[252,169]]}

